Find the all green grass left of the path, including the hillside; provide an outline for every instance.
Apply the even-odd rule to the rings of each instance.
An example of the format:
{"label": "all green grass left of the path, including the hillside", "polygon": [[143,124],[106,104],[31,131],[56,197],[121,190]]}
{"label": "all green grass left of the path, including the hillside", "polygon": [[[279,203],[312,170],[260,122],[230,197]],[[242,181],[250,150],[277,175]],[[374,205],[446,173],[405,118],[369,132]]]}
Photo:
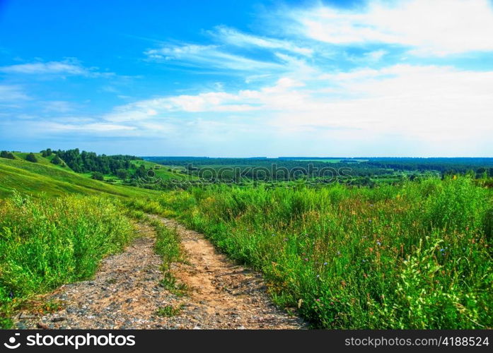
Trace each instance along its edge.
{"label": "all green grass left of the path, including the hillside", "polygon": [[0,158],[0,327],[25,299],[93,275],[103,256],[122,249],[128,217],[144,215],[120,200],[159,194],[84,177],[40,154],[36,163],[15,155]]}

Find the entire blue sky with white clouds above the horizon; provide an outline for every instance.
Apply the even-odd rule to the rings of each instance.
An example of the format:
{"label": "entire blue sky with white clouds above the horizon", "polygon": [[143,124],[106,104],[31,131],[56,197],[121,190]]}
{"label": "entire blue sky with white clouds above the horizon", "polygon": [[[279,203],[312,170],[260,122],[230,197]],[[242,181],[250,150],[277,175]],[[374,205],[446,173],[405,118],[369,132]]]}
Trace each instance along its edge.
{"label": "entire blue sky with white clouds above the horizon", "polygon": [[0,0],[0,149],[493,156],[493,1]]}

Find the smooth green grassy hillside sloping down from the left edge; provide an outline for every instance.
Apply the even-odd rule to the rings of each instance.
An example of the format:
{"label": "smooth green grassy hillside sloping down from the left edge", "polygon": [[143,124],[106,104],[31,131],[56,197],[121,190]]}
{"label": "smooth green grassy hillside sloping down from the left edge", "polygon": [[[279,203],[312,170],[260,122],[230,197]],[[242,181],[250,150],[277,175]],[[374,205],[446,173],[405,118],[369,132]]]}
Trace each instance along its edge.
{"label": "smooth green grassy hillside sloping down from the left edge", "polygon": [[16,160],[0,158],[0,198],[10,196],[13,190],[39,196],[62,196],[67,193],[95,195],[105,193],[122,197],[149,197],[158,191],[111,185],[76,174],[69,167],[60,167],[35,154],[37,163],[24,160],[26,153],[15,153]]}

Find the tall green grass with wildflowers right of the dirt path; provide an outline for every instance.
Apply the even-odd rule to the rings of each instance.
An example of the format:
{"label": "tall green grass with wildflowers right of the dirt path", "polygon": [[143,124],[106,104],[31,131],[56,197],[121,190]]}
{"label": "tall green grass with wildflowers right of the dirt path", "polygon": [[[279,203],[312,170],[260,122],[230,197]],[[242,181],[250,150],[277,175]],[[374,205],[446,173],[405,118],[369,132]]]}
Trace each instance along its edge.
{"label": "tall green grass with wildflowers right of the dirt path", "polygon": [[216,186],[165,194],[161,208],[262,270],[274,300],[317,327],[452,329],[493,327],[492,200],[464,177]]}

